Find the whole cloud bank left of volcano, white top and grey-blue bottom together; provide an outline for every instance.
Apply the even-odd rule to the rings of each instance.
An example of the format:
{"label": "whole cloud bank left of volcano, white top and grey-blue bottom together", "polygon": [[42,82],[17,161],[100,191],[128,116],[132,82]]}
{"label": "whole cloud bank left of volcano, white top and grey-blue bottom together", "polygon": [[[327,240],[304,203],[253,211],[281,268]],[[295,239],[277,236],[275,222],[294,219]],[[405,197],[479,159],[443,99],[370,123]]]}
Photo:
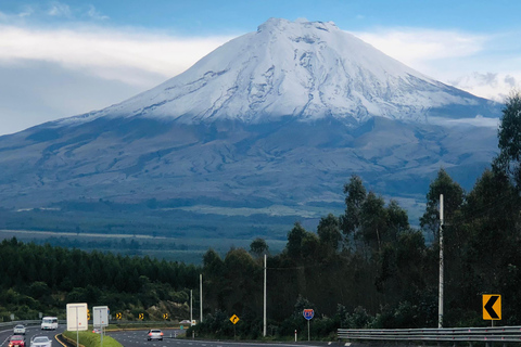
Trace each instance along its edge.
{"label": "whole cloud bank left of volcano, white top and grey-blue bottom together", "polygon": [[0,136],[122,102],[231,38],[86,24],[67,29],[0,24]]}

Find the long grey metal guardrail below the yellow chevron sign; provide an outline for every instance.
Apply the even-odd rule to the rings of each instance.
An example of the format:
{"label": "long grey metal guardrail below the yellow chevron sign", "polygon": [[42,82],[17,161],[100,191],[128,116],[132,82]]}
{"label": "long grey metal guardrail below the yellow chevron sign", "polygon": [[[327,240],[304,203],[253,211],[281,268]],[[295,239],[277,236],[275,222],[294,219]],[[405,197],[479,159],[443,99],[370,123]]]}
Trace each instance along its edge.
{"label": "long grey metal guardrail below the yellow chevron sign", "polygon": [[380,342],[466,342],[472,343],[521,343],[521,326],[495,327],[444,327],[444,329],[396,329],[396,330],[350,330],[339,329],[338,337],[347,340]]}

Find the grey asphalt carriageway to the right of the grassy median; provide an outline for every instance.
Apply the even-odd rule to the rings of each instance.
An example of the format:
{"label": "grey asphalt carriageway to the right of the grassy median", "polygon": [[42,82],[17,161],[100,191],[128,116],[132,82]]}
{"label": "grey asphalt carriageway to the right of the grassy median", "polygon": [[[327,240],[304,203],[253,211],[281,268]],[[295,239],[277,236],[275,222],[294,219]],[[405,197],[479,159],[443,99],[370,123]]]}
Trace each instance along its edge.
{"label": "grey asphalt carriageway to the right of the grassy median", "polygon": [[[106,335],[118,340],[124,347],[297,347],[297,346],[338,346],[338,343],[246,343],[174,338],[175,331],[165,330],[163,340],[147,340],[147,331],[109,332]],[[177,331],[179,333],[179,331]],[[342,344],[343,346],[343,344]]]}

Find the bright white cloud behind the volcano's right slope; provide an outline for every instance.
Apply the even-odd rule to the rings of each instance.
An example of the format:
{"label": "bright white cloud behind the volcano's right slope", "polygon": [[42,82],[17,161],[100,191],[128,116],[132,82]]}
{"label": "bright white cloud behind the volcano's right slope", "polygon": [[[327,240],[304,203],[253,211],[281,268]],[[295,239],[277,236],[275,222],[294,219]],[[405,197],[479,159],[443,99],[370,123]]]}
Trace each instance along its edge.
{"label": "bright white cloud behind the volcano's right slope", "polygon": [[512,44],[519,33],[387,28],[353,34],[418,72],[478,97],[503,102],[520,87],[521,49]]}

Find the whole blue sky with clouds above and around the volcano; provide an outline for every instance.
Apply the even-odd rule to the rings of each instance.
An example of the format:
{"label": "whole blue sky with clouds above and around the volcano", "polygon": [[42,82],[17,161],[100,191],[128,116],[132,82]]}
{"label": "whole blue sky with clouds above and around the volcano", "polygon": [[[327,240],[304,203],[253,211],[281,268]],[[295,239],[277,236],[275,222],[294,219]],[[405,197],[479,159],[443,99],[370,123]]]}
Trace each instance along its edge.
{"label": "whole blue sky with clouds above and around the volcano", "polygon": [[270,17],[332,21],[444,83],[521,89],[521,1],[0,0],[0,136],[101,110]]}

